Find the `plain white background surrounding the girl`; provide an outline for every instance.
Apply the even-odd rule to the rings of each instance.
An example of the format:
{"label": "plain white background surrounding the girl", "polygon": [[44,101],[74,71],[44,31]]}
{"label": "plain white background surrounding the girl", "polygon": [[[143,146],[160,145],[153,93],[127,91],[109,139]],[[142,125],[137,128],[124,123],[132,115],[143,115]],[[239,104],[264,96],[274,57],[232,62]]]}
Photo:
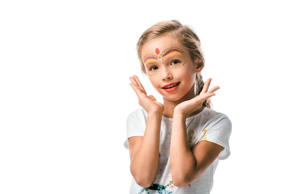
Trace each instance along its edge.
{"label": "plain white background surrounding the girl", "polygon": [[220,86],[214,110],[232,121],[211,194],[289,193],[285,2],[1,1],[0,193],[129,193],[126,119],[140,108],[129,77],[162,102],[135,45],[171,19],[197,32],[204,81]]}

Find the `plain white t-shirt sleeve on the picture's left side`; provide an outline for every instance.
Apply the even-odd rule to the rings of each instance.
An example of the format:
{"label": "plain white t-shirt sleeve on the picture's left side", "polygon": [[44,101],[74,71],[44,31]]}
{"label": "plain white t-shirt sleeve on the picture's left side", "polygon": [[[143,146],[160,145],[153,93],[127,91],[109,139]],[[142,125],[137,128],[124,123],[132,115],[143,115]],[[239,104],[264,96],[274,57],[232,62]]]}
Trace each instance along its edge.
{"label": "plain white t-shirt sleeve on the picture's left side", "polygon": [[144,136],[145,128],[141,125],[141,123],[136,119],[134,116],[128,116],[126,120],[126,129],[127,129],[127,136],[124,142],[125,148],[129,150],[129,137],[133,136]]}

